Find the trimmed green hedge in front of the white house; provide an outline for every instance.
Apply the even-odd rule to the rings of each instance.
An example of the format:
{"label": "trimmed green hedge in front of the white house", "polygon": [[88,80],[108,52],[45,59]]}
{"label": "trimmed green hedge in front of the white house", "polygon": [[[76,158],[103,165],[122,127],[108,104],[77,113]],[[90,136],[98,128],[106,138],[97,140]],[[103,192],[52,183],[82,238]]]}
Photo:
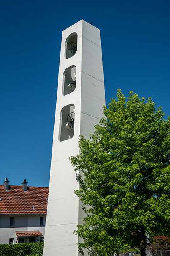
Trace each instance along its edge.
{"label": "trimmed green hedge in front of the white house", "polygon": [[0,256],[42,256],[44,243],[0,244]]}

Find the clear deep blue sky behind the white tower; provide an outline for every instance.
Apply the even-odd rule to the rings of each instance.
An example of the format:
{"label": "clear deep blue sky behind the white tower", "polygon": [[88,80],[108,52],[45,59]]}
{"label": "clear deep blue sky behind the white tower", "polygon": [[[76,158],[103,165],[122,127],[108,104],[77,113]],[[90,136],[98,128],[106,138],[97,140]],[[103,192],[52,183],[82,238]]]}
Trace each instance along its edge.
{"label": "clear deep blue sky behind the white tower", "polygon": [[0,184],[48,186],[62,30],[100,29],[107,104],[117,89],[170,115],[170,1],[0,3]]}

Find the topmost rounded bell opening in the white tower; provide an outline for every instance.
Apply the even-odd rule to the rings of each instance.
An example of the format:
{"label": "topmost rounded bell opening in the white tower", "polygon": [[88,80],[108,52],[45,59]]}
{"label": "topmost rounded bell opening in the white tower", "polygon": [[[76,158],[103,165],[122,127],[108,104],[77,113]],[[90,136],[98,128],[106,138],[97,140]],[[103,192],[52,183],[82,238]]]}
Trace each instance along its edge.
{"label": "topmost rounded bell opening in the white tower", "polygon": [[65,43],[65,58],[68,59],[76,54],[77,51],[77,33],[71,33]]}

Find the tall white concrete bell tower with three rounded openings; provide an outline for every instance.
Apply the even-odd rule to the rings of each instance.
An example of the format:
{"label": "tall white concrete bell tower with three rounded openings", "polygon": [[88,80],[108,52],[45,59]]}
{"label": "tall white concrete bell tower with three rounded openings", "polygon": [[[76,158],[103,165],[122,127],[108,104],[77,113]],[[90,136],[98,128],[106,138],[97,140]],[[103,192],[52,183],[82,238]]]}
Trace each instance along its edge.
{"label": "tall white concrete bell tower with three rounded openings", "polygon": [[105,105],[100,30],[84,20],[62,33],[43,256],[78,256],[73,234],[84,212],[69,157],[79,154],[79,135],[89,138]]}

